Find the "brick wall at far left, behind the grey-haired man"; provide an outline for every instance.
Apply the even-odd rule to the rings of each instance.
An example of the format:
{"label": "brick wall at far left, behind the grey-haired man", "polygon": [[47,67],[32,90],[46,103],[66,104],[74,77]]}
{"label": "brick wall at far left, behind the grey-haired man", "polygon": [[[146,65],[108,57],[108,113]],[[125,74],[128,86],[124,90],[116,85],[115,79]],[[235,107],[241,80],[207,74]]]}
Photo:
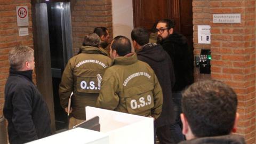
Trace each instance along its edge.
{"label": "brick wall at far left, behind the grey-haired man", "polygon": [[[19,36],[16,6],[28,6],[29,36]],[[27,45],[33,48],[30,0],[0,0],[0,116],[3,115],[4,85],[9,75],[8,53],[12,47]]]}

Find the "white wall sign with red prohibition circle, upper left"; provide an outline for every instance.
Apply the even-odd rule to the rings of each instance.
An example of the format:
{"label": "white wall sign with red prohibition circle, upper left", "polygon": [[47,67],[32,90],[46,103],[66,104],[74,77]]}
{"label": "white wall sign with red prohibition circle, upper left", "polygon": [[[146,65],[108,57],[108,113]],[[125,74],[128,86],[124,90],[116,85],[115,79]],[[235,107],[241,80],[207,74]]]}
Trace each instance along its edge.
{"label": "white wall sign with red prohibition circle, upper left", "polygon": [[17,6],[16,14],[18,27],[28,26],[28,6]]}

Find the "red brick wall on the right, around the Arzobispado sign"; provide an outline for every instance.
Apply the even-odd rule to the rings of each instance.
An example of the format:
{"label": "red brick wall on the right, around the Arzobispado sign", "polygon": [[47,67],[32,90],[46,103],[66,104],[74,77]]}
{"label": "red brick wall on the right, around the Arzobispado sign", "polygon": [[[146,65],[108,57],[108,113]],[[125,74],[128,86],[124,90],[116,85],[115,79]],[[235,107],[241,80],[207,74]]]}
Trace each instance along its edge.
{"label": "red brick wall on the right, around the Arzobispado sign", "polygon": [[[212,23],[213,13],[241,13],[239,24]],[[212,52],[211,78],[233,87],[238,95],[237,133],[255,143],[255,0],[193,0],[195,55]],[[211,44],[197,44],[197,25],[211,26]]]}

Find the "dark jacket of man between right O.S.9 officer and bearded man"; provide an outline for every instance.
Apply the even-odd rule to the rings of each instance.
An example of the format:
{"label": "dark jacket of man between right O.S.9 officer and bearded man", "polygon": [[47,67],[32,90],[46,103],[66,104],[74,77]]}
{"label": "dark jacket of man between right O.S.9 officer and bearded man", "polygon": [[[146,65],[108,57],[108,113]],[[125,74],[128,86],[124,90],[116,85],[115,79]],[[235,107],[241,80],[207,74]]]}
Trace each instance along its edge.
{"label": "dark jacket of man between right O.S.9 officer and bearded man", "polygon": [[160,117],[155,121],[157,127],[173,124],[174,111],[172,102],[172,90],[175,77],[172,66],[172,61],[169,55],[163,50],[161,45],[145,45],[141,51],[137,53],[138,59],[148,63],[154,70],[158,82],[163,91],[163,108]]}

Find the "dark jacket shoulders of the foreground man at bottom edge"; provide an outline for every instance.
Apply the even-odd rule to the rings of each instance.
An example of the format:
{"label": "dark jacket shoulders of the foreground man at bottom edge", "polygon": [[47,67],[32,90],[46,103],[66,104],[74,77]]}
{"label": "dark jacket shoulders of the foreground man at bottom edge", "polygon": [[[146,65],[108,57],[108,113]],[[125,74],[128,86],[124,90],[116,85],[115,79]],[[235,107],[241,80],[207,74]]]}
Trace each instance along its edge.
{"label": "dark jacket shoulders of the foreground man at bottom edge", "polygon": [[240,135],[230,134],[230,135],[222,135],[218,137],[203,137],[203,138],[195,138],[192,140],[181,141],[179,144],[245,144],[245,140]]}

